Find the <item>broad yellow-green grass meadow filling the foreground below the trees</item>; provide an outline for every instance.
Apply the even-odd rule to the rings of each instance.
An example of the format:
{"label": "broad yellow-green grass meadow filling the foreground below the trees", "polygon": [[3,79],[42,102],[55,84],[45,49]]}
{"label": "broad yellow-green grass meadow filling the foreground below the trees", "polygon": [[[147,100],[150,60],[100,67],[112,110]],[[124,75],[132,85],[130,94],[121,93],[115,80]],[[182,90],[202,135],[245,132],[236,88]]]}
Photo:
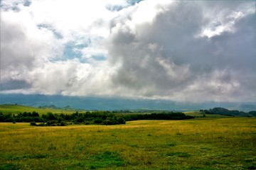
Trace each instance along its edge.
{"label": "broad yellow-green grass meadow filling the foreground below the trees", "polygon": [[256,118],[0,123],[0,169],[256,169]]}

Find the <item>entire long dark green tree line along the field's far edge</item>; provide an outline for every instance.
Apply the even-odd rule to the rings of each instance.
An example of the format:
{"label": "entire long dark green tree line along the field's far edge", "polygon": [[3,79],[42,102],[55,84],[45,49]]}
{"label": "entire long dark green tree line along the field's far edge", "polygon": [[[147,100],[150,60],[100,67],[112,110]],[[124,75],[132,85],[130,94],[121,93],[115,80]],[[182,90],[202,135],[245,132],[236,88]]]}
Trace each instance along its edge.
{"label": "entire long dark green tree line along the field's far edge", "polygon": [[125,124],[131,120],[183,120],[194,118],[183,113],[161,112],[161,113],[130,113],[124,111],[92,111],[72,114],[46,113],[39,115],[37,112],[23,112],[18,114],[0,113],[0,122],[9,123],[31,123],[39,126],[55,126],[68,124],[85,125],[118,125]]}

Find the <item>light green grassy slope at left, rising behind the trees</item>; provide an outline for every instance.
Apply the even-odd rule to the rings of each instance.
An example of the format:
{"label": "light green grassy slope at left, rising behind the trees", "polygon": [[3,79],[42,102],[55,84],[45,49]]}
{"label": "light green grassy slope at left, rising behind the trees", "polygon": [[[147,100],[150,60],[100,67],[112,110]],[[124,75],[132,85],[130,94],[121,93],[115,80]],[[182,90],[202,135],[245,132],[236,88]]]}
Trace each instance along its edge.
{"label": "light green grassy slope at left, rising behind the trees", "polygon": [[23,112],[36,111],[40,115],[46,113],[75,113],[75,109],[61,109],[61,108],[34,108],[30,106],[21,106],[21,105],[0,105],[0,113],[11,113],[18,114]]}

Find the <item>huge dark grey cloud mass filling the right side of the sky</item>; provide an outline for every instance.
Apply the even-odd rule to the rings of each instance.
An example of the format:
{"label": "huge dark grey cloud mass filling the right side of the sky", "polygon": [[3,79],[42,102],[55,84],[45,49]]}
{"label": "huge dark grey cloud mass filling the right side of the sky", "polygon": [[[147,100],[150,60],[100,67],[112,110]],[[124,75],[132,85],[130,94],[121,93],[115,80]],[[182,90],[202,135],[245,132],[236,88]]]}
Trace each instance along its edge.
{"label": "huge dark grey cloud mass filling the right side of the sky", "polygon": [[[142,96],[172,98],[181,93],[180,100],[191,100],[193,96],[233,100],[253,91],[253,86],[247,88],[247,84],[256,80],[253,72],[256,54],[252,47],[255,14],[232,21],[234,24],[220,35],[200,37],[196,35],[210,22],[203,13],[206,7],[213,11],[222,7],[225,12],[230,9],[225,8],[226,3],[221,6],[218,2],[213,8],[204,4],[176,2],[156,15],[152,23],[138,24],[135,28],[123,21],[115,24],[109,52],[112,61],[121,62],[122,66],[113,77],[114,84]],[[243,79],[242,74],[247,74],[247,78]],[[191,86],[194,88],[190,90]]]}

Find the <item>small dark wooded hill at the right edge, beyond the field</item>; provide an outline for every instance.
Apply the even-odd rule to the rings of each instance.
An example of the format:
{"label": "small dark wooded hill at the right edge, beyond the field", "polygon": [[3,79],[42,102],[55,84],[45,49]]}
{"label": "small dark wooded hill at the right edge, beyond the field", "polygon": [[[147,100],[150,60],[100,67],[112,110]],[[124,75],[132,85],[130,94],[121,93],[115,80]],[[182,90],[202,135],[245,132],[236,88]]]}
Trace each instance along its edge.
{"label": "small dark wooded hill at the right edge, beyond the field", "polygon": [[214,114],[214,115],[233,115],[233,116],[256,116],[256,111],[249,111],[245,113],[244,111],[230,111],[226,108],[210,108],[209,110],[200,110],[201,113]]}

